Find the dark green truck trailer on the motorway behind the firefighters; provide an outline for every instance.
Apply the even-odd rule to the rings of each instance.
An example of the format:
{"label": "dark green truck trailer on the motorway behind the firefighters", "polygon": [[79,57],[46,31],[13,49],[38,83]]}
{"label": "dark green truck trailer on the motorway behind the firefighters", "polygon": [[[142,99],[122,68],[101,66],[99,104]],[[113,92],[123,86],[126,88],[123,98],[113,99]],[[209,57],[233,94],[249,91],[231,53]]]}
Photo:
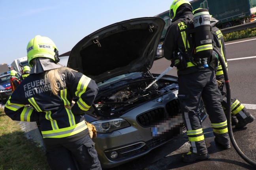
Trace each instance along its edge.
{"label": "dark green truck trailer on the motorway behind the firefighters", "polygon": [[[256,0],[192,0],[190,4],[193,9],[208,9],[210,15],[219,21],[216,24],[219,29],[256,20]],[[163,41],[166,30],[171,23],[169,10],[155,17],[161,17],[166,22],[161,36],[161,40]]]}

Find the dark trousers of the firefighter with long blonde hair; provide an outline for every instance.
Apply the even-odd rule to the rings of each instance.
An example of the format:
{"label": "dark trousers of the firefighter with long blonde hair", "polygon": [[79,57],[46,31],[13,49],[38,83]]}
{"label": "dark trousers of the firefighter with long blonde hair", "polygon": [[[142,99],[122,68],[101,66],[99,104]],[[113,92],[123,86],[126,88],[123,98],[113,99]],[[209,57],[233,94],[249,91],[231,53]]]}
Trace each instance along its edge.
{"label": "dark trousers of the firefighter with long blonde hair", "polygon": [[89,135],[64,144],[47,144],[47,162],[52,170],[102,170],[94,144]]}

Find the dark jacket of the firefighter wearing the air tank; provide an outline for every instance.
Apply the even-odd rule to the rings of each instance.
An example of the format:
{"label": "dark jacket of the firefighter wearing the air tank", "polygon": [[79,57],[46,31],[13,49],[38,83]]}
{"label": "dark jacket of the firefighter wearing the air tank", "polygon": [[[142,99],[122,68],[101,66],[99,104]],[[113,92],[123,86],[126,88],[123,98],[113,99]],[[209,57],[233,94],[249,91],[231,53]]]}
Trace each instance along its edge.
{"label": "dark jacket of the firefighter wearing the air tank", "polygon": [[[179,16],[178,18],[174,18],[172,20],[171,25],[167,29],[167,33],[164,39],[164,57],[167,60],[171,60],[173,63],[173,58],[177,54],[177,52],[183,52],[185,53],[186,45],[189,47],[189,43],[186,43],[186,28],[187,25],[184,21],[181,19],[184,19],[186,16],[188,16],[190,19],[193,19],[193,14],[190,11],[184,12],[183,15]],[[203,71],[203,70],[209,70],[209,68],[199,69],[196,64],[193,62],[190,62],[189,58],[186,58],[186,56],[183,56],[183,62],[185,59],[185,69],[179,69],[179,66],[177,66],[177,75],[184,75],[184,74],[190,74],[197,71]],[[182,63],[182,62],[181,62]]]}

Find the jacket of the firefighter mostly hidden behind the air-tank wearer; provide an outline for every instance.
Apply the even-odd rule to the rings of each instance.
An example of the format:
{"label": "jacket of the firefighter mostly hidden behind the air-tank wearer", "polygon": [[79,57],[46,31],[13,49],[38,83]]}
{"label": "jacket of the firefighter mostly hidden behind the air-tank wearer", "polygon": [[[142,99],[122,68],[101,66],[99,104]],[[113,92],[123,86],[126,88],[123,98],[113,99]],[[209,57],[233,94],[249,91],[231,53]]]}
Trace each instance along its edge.
{"label": "jacket of the firefighter mostly hidden behind the air-tank wearer", "polygon": [[[226,68],[228,69],[228,60],[226,58],[226,47],[222,32],[216,27],[212,27],[212,37],[213,37],[213,47],[215,47],[218,52],[220,52],[223,60],[225,61]],[[215,69],[216,80],[224,80],[224,73],[222,66],[218,61],[218,67]]]}

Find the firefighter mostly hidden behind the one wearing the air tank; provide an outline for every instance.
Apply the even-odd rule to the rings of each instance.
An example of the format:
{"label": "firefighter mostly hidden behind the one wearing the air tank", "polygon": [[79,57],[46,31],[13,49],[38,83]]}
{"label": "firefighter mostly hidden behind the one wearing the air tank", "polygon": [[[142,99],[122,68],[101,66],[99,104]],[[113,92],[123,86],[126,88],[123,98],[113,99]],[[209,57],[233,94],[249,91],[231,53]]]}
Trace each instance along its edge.
{"label": "firefighter mostly hidden behind the one wearing the air tank", "polygon": [[[228,68],[228,60],[226,58],[226,47],[224,43],[224,38],[222,35],[222,32],[214,26],[218,20],[215,18],[211,17],[211,24],[213,25],[212,27],[212,36],[213,36],[213,45],[214,47],[220,52],[221,56],[223,57],[226,67]],[[224,80],[224,73],[222,70],[222,66],[220,62],[218,63],[218,67],[216,67],[215,70],[215,75],[216,75],[216,80],[219,84],[219,90],[222,94],[222,108],[224,109],[224,112],[226,112],[226,107],[227,107],[227,92],[226,92],[226,85],[225,85],[225,80]],[[235,125],[235,128],[239,129],[242,127],[245,127],[248,123],[251,123],[254,121],[254,116],[252,116],[247,108],[240,103],[237,99],[231,97],[231,112],[232,112],[232,125]]]}

